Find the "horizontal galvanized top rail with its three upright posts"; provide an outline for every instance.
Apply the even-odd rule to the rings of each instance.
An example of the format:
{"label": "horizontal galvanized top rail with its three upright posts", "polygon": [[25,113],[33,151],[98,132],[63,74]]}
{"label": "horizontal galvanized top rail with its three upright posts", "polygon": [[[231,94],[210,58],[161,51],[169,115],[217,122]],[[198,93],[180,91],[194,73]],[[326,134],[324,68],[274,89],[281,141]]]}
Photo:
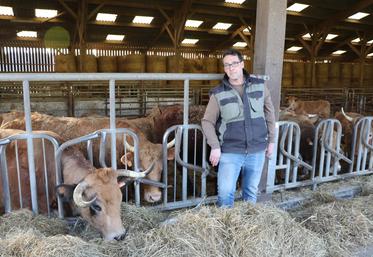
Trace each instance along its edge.
{"label": "horizontal galvanized top rail with its three upright posts", "polygon": [[[221,79],[221,74],[176,74],[176,73],[50,73],[50,74],[0,74],[0,81],[22,81],[22,92],[25,112],[25,127],[26,127],[26,140],[27,140],[27,152],[28,152],[28,167],[29,177],[31,186],[32,196],[32,210],[38,213],[37,206],[37,194],[36,194],[36,177],[35,177],[35,165],[34,165],[34,154],[33,154],[33,134],[32,134],[32,123],[31,123],[31,104],[30,104],[30,81],[97,81],[106,80],[109,81],[109,99],[110,99],[110,130],[108,133],[112,138],[116,137],[116,122],[115,122],[115,81],[116,80],[182,80],[184,81],[184,117],[183,123],[188,124],[188,113],[189,113],[189,81],[190,80],[216,80]],[[188,139],[188,134],[185,135],[185,139]],[[2,144],[9,143],[9,140],[3,141]],[[183,145],[183,152],[187,158],[187,144]],[[113,169],[116,169],[116,140],[111,140],[111,165]],[[186,160],[186,159],[184,159]],[[3,163],[3,162],[2,162]],[[3,170],[3,169],[2,169]],[[4,187],[5,188],[5,187]],[[9,199],[5,199],[9,202]],[[8,209],[9,210],[9,209]]]}

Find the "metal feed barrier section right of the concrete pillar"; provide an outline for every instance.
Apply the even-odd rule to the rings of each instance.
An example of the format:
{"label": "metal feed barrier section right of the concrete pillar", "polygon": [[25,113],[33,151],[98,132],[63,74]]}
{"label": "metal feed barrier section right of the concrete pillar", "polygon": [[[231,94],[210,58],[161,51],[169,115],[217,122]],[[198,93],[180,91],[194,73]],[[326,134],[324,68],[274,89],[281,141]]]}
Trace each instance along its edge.
{"label": "metal feed barrier section right of the concrete pillar", "polygon": [[[319,183],[373,173],[372,121],[373,117],[364,117],[355,124],[350,158],[341,150],[340,122],[321,121],[315,128],[310,163],[302,160],[300,147],[304,146],[300,146],[299,125],[277,122],[277,151],[269,160],[267,193],[303,186],[315,188]],[[300,174],[301,169],[306,172]]]}

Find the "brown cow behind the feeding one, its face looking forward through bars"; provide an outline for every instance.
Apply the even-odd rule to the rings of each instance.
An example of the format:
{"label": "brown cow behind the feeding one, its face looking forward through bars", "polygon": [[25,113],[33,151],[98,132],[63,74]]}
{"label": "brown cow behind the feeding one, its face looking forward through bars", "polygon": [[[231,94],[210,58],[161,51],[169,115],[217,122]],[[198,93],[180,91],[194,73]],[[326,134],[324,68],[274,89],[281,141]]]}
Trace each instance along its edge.
{"label": "brown cow behind the feeding one, its face looking forward through bars", "polygon": [[[68,141],[83,135],[87,135],[94,131],[109,128],[110,120],[108,118],[72,118],[72,117],[53,117],[46,114],[35,113],[32,114],[32,127],[36,130],[50,130],[59,134],[62,141]],[[116,121],[117,128],[129,128],[132,129],[139,137],[139,154],[140,154],[140,165],[143,169],[147,169],[155,162],[154,170],[149,173],[147,178],[155,181],[160,181],[162,172],[162,145],[151,143],[146,136],[141,132],[137,126],[133,126],[130,120]],[[12,122],[8,122],[3,128],[16,128],[25,129],[24,119],[17,119]],[[110,149],[110,144],[106,145],[107,149]],[[171,148],[171,145],[169,145]],[[84,149],[81,149],[84,151]],[[98,156],[98,145],[94,144],[95,156]],[[110,151],[106,151],[107,153]],[[120,159],[124,155],[123,140],[117,139],[117,157],[118,164]],[[127,164],[133,163],[133,154],[127,153]],[[169,160],[174,158],[174,149],[170,149],[167,158]],[[110,157],[107,158],[110,160]],[[161,200],[161,190],[158,187],[145,185],[144,186],[144,199],[147,202],[157,202]]]}

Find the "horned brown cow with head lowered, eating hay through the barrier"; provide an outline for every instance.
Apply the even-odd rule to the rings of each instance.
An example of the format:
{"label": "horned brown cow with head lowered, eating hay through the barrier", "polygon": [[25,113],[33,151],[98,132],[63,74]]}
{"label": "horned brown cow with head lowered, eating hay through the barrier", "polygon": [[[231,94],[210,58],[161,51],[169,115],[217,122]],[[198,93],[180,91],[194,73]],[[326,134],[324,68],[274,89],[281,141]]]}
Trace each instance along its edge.
{"label": "horned brown cow with head lowered, eating hay through the barrier", "polygon": [[[21,130],[0,129],[0,138],[23,133]],[[48,134],[52,137],[59,138],[58,135],[49,131],[35,131],[34,133]],[[47,142],[48,140],[45,140]],[[55,188],[55,162],[54,148],[51,143],[45,144],[45,159],[43,157],[43,146],[41,139],[34,139],[34,160],[35,173],[37,177],[37,192],[39,206],[42,211],[46,211],[45,202],[45,177],[44,177],[44,160],[48,171],[49,198],[54,198]],[[9,174],[9,185],[11,193],[11,202],[14,208],[19,208],[17,199],[18,178],[17,163],[15,156],[15,147],[18,149],[18,163],[20,167],[21,188],[23,207],[30,207],[30,183],[28,175],[27,161],[27,144],[25,140],[18,140],[17,144],[12,141],[7,147],[7,167]],[[58,193],[65,200],[74,200],[77,213],[80,213],[83,219],[87,220],[95,227],[106,240],[121,240],[125,236],[125,229],[120,218],[120,206],[122,202],[122,193],[120,187],[123,182],[118,182],[118,177],[131,176],[143,177],[146,172],[133,173],[128,170],[113,171],[109,168],[95,169],[83,154],[75,149],[70,148],[63,152],[61,157],[62,174],[64,184],[58,186]],[[2,191],[2,183],[0,184]],[[83,197],[84,195],[84,197]],[[90,200],[85,200],[88,198]],[[18,202],[19,203],[19,202]],[[0,206],[3,203],[0,201]]]}

